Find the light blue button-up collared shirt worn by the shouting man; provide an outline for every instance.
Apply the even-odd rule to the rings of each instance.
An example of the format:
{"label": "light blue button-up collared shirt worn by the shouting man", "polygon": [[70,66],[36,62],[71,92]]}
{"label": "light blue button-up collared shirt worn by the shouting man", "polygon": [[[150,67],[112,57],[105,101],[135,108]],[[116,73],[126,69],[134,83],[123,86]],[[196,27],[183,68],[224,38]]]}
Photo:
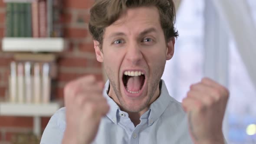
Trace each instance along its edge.
{"label": "light blue button-up collared shirt worn by the shouting man", "polygon": [[[181,103],[172,98],[161,80],[161,95],[154,101],[136,127],[108,96],[109,81],[103,95],[110,111],[102,118],[98,134],[92,144],[193,144],[188,132],[187,115]],[[66,109],[57,111],[43,132],[40,144],[61,144],[66,128]]]}

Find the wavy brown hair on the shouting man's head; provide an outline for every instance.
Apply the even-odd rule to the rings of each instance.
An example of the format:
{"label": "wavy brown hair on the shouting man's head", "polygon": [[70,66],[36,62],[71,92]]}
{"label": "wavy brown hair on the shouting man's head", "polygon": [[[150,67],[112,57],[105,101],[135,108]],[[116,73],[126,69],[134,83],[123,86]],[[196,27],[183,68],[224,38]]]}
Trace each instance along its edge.
{"label": "wavy brown hair on the shouting man's head", "polygon": [[89,31],[102,45],[104,29],[114,23],[128,8],[157,7],[165,40],[178,36],[174,28],[175,8],[172,0],[96,0],[90,10]]}

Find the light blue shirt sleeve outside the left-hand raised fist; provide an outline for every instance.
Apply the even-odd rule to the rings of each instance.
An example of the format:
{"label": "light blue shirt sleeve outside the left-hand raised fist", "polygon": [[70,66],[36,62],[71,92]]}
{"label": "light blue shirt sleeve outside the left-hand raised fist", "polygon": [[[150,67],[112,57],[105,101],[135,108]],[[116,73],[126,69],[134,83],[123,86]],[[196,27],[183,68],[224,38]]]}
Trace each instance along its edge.
{"label": "light blue shirt sleeve outside the left-hand raised fist", "polygon": [[40,144],[61,144],[66,128],[65,108],[59,109],[50,118],[40,141]]}

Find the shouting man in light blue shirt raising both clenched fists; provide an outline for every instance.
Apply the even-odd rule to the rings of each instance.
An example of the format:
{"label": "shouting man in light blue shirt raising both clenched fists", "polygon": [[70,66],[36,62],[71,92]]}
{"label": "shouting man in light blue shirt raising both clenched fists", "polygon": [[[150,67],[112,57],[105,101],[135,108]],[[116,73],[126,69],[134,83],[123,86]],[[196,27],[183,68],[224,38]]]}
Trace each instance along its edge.
{"label": "shouting man in light blue shirt raising both clenched fists", "polygon": [[66,108],[41,144],[224,144],[228,90],[203,78],[181,104],[161,80],[178,36],[172,0],[98,0],[90,12],[109,81],[103,88],[91,75],[67,84]]}

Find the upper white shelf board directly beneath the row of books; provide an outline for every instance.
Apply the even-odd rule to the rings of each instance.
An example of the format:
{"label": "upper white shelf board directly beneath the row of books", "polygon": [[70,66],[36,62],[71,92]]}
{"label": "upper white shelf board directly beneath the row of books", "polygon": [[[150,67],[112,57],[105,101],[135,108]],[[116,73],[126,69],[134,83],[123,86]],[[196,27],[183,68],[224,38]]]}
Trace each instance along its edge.
{"label": "upper white shelf board directly beneath the row of books", "polygon": [[12,38],[4,37],[4,52],[62,52],[65,47],[63,38]]}

